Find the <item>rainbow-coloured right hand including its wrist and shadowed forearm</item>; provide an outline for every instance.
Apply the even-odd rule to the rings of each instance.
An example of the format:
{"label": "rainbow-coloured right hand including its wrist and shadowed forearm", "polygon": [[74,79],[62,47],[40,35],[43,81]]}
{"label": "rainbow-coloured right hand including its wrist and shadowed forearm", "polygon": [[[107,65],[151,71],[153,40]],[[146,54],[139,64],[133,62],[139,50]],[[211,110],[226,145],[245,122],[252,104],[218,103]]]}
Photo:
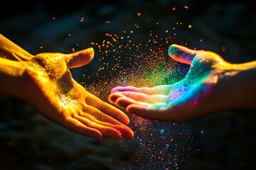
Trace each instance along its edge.
{"label": "rainbow-coloured right hand including its wrist and shadowed forearm", "polygon": [[151,120],[185,123],[229,109],[256,108],[256,61],[231,64],[215,52],[171,45],[169,56],[190,69],[181,81],[154,87],[117,86],[110,103]]}

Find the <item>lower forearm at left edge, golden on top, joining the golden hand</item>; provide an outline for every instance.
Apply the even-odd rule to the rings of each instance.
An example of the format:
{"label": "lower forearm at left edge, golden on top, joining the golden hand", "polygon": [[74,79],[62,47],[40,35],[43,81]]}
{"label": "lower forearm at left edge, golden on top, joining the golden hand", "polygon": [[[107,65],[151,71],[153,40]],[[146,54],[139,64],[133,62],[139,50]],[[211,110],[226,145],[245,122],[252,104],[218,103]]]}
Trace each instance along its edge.
{"label": "lower forearm at left edge, golden on top, joining the golden hand", "polygon": [[0,94],[21,98],[26,62],[0,58]]}

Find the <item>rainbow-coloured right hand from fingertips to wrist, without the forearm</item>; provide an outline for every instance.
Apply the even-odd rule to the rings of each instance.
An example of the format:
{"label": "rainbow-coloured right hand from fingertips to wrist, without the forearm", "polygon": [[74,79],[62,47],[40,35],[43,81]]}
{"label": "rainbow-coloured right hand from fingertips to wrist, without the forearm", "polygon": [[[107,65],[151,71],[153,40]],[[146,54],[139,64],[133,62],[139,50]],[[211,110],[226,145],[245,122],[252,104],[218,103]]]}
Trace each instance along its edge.
{"label": "rainbow-coloured right hand from fingertips to wrist, without the forearm", "polygon": [[230,69],[232,64],[214,52],[190,50],[180,45],[171,45],[169,55],[178,62],[191,64],[184,79],[175,84],[154,87],[117,86],[108,98],[110,103],[124,108],[127,113],[176,123],[229,107],[228,89],[223,88],[223,77],[235,74]]}

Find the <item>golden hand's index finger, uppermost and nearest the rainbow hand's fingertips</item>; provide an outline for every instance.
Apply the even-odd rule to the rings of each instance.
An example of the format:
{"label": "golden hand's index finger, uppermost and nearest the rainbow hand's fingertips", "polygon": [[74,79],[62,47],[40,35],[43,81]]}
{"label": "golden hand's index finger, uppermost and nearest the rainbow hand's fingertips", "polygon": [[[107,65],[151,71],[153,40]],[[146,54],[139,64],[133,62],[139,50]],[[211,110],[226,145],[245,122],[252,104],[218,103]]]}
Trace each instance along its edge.
{"label": "golden hand's index finger, uppermost and nearest the rainbow hand's fingertips", "polygon": [[88,94],[86,98],[86,103],[87,105],[102,111],[102,113],[110,115],[112,118],[118,120],[119,122],[124,123],[124,125],[129,124],[129,118],[126,114],[124,114],[118,108],[112,106],[110,103],[106,103],[100,100],[100,98],[97,98],[97,96]]}

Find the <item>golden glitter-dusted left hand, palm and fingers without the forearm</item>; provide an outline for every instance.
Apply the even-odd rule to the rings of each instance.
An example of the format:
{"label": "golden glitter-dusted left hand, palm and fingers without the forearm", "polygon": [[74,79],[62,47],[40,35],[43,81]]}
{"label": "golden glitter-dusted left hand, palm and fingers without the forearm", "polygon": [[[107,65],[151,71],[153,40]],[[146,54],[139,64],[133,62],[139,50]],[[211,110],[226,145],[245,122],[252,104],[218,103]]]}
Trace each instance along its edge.
{"label": "golden glitter-dusted left hand, palm and fingers without the forearm", "polygon": [[90,94],[70,73],[69,69],[85,65],[93,57],[92,48],[68,55],[34,56],[23,72],[26,81],[21,98],[49,120],[81,135],[132,138],[133,132],[126,126],[127,115]]}

